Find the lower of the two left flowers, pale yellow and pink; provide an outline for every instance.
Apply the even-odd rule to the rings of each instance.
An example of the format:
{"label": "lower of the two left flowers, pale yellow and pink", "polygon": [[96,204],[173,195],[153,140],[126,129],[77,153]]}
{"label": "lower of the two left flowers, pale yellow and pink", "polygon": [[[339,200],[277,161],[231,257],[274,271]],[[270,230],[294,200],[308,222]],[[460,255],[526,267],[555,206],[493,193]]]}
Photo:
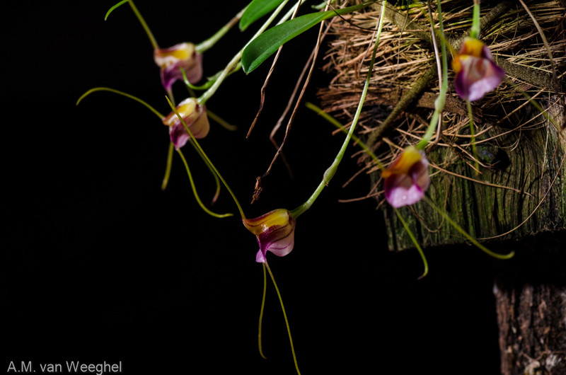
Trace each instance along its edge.
{"label": "lower of the two left flowers, pale yellow and pink", "polygon": [[[183,100],[179,103],[176,110],[183,117],[183,121],[185,121],[185,124],[187,124],[187,127],[189,127],[196,139],[207,136],[210,129],[207,110],[204,108],[204,105],[200,105],[197,102],[197,99],[188,98]],[[171,142],[175,145],[175,148],[180,149],[185,146],[190,135],[175,112],[171,112],[163,118],[163,124],[169,127],[169,137],[171,137]]]}

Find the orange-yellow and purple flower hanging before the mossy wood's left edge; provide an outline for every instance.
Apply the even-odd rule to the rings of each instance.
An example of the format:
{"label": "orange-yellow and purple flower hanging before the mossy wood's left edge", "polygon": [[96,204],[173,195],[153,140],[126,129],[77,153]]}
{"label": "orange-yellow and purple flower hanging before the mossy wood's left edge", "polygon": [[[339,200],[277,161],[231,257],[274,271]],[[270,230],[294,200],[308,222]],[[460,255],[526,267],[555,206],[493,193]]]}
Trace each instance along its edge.
{"label": "orange-yellow and purple flower hanging before the mossy wood's left edge", "polygon": [[414,204],[424,197],[429,187],[429,162],[424,152],[408,146],[403,153],[381,173],[385,198],[393,207]]}

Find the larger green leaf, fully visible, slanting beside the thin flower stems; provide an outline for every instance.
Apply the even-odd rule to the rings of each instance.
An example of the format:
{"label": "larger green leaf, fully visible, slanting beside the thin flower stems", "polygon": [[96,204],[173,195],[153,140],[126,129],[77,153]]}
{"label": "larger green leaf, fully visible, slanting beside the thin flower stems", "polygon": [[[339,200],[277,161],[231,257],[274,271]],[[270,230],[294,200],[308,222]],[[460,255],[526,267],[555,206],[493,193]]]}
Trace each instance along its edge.
{"label": "larger green leaf, fully visible, slanting beside the thin flower stems", "polygon": [[260,36],[256,37],[242,54],[243,71],[249,74],[255,68],[259,67],[268,57],[270,57],[284,43],[289,42],[297,35],[304,33],[319,22],[328,20],[337,15],[343,15],[358,11],[359,9],[369,6],[374,1],[367,1],[364,4],[349,6],[343,9],[335,9],[333,11],[325,11],[318,13],[309,13],[277,25]]}

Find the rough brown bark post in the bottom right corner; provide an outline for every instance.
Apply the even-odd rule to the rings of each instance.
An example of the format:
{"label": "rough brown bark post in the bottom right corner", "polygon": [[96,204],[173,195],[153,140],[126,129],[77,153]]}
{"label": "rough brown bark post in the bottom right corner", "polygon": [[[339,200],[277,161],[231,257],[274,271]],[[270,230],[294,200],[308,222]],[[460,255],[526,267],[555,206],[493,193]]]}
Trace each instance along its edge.
{"label": "rough brown bark post in the bottom right corner", "polygon": [[566,255],[562,240],[547,236],[522,241],[520,258],[499,272],[493,291],[503,375],[566,374]]}

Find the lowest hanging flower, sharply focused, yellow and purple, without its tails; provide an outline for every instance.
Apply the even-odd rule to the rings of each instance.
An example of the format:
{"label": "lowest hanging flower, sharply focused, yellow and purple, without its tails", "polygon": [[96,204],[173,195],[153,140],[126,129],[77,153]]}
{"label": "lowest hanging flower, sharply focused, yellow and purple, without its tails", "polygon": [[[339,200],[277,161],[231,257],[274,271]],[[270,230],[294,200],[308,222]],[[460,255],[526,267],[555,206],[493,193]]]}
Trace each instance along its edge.
{"label": "lowest hanging flower, sharply focused, yellow and purple, without its tails", "polygon": [[287,209],[275,209],[255,219],[242,221],[258,239],[260,250],[255,255],[256,262],[265,263],[267,251],[282,257],[293,250],[296,221]]}

